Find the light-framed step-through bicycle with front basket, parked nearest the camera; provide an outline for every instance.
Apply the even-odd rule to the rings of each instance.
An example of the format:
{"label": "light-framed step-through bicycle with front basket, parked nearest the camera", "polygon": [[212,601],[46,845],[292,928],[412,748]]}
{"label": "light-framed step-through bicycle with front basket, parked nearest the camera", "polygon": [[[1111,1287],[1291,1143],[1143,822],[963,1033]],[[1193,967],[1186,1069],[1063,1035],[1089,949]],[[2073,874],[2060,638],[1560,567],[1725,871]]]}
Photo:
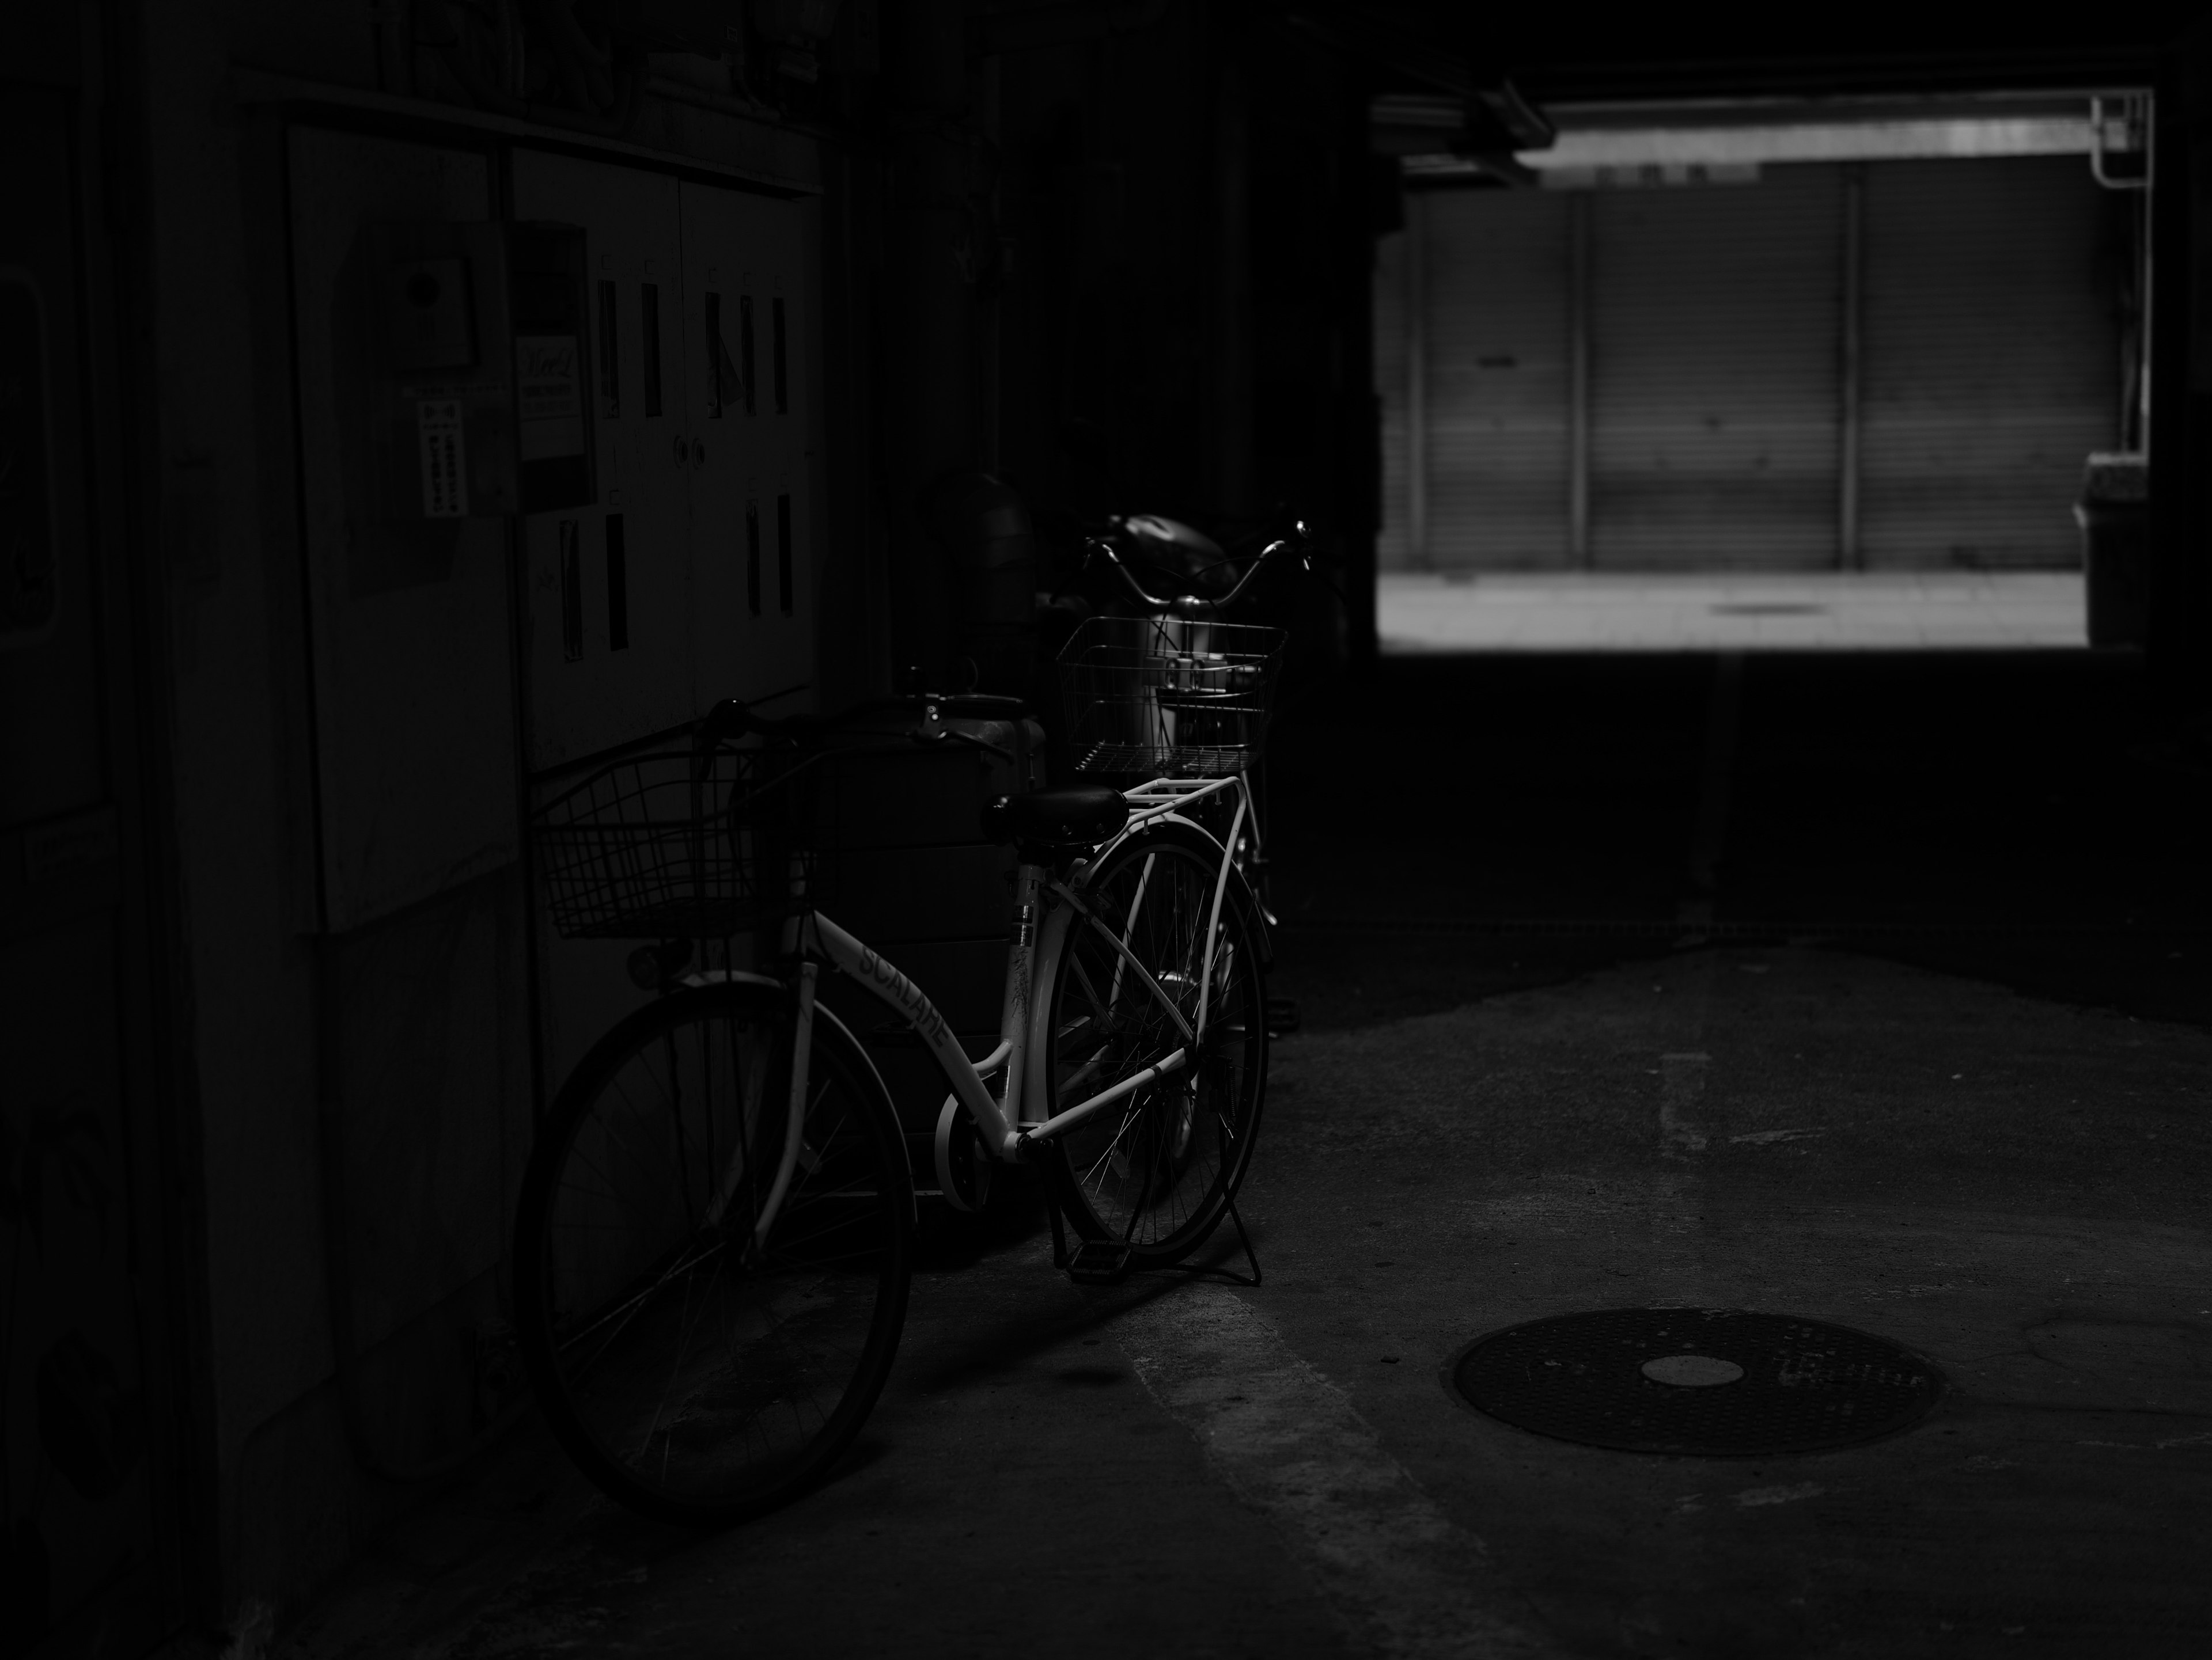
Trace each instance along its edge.
{"label": "light-framed step-through bicycle with front basket, parked nearest the camera", "polygon": [[[1259,743],[1279,654],[1281,637],[1259,668],[1183,641],[1108,679],[1152,687],[1164,736],[1223,752],[1228,732]],[[964,740],[949,714],[925,707],[914,740]],[[564,935],[768,928],[776,946],[772,973],[701,966],[606,1032],[522,1183],[515,1324],[538,1399],[606,1492],[657,1516],[730,1523],[821,1479],[898,1348],[914,1178],[883,1079],[816,995],[825,973],[883,999],[945,1072],[947,1202],[980,1207],[1000,1165],[1035,1169],[1077,1278],[1186,1262],[1250,1169],[1267,992],[1265,924],[1225,853],[1252,824],[1243,769],[993,802],[1015,937],[998,1046],[971,1061],[927,990],[823,911],[858,754],[836,723],[721,705],[688,749],[611,763],[533,827]]]}

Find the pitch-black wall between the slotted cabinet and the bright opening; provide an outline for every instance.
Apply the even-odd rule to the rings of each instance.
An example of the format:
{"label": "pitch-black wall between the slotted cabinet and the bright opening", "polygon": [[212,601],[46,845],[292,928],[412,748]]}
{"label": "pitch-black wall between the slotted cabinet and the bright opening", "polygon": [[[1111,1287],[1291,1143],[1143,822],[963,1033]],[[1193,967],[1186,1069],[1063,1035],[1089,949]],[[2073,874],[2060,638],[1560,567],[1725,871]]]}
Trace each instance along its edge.
{"label": "pitch-black wall between the slotted cabinet and the bright opening", "polygon": [[[1042,44],[969,18],[958,64],[956,11],[894,11],[849,192],[887,672],[938,672],[958,634],[953,553],[920,511],[951,469],[1026,497],[1042,590],[1077,581],[1075,530],[1104,513],[1232,537],[1296,511],[1365,595],[1365,71],[1241,4],[1075,7],[1077,38]],[[1303,645],[1340,656],[1334,606],[1290,603]]]}

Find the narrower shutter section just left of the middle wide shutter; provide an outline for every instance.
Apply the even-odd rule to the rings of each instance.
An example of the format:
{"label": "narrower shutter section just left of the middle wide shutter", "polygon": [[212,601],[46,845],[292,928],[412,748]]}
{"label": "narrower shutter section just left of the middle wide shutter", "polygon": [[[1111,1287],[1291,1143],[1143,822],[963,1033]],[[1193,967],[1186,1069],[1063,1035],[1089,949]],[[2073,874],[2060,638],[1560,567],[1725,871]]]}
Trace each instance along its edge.
{"label": "narrower shutter section just left of the middle wide shutter", "polygon": [[1431,190],[1427,292],[1427,557],[1433,568],[1566,564],[1568,201],[1537,190]]}

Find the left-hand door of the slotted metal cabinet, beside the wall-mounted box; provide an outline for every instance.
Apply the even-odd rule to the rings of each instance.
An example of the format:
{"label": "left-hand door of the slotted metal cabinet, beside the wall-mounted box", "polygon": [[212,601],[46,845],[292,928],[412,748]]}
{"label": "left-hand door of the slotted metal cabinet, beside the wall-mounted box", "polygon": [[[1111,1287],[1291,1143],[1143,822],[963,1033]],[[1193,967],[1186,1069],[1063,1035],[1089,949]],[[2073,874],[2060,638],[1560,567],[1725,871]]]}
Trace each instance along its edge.
{"label": "left-hand door of the slotted metal cabinet, beside the wall-mounted box", "polygon": [[[677,181],[513,153],[518,219],[584,225],[599,500],[522,522],[531,769],[699,714]],[[653,338],[648,338],[653,336]],[[657,349],[655,349],[657,345]]]}

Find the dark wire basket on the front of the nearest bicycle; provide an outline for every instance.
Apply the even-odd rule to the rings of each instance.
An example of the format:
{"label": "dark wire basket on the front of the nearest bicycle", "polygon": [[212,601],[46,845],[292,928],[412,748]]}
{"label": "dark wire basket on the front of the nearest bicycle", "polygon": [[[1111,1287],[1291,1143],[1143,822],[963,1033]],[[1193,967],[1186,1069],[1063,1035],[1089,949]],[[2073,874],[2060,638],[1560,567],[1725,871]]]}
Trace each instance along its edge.
{"label": "dark wire basket on the front of the nearest bicycle", "polygon": [[830,897],[821,752],[666,749],[599,767],[531,836],[566,939],[728,939]]}

